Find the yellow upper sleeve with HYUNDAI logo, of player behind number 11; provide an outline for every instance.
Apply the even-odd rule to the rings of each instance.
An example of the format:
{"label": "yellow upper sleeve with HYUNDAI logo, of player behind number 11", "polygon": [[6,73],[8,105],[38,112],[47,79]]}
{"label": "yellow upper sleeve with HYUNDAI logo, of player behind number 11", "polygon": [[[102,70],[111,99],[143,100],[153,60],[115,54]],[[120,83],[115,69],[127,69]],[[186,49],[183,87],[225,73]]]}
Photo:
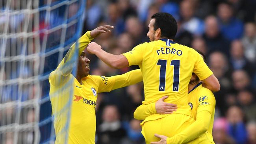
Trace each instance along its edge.
{"label": "yellow upper sleeve with HYUNDAI logo, of player behind number 11", "polygon": [[200,94],[198,95],[198,107],[197,107],[197,113],[200,111],[209,111],[211,115],[213,115],[215,111],[215,97],[211,90],[204,89],[200,91]]}

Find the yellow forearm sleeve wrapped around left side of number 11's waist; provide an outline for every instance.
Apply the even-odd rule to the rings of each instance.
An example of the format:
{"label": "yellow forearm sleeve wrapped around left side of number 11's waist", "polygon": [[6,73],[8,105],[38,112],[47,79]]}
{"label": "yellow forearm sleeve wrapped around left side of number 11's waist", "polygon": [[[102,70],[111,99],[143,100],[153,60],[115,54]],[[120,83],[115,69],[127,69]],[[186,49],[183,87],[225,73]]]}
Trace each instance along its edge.
{"label": "yellow forearm sleeve wrapped around left side of number 11's waist", "polygon": [[148,116],[156,114],[156,103],[149,103],[147,105],[140,105],[134,111],[134,118],[137,120],[145,120]]}

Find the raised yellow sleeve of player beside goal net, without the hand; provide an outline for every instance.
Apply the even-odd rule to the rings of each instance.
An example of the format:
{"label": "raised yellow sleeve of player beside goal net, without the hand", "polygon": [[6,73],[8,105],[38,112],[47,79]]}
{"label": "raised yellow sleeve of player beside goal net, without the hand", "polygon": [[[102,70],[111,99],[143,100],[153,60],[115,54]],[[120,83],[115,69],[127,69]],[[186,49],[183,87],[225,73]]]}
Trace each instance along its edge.
{"label": "raised yellow sleeve of player beside goal net, without the hand", "polygon": [[[82,35],[82,37],[78,39],[78,42],[72,44],[72,46],[69,48],[69,51],[59,63],[56,70],[51,72],[49,76],[49,81],[52,85],[60,86],[67,81],[66,77],[72,72],[72,68],[74,67],[74,61],[77,61],[77,59],[74,59],[74,56],[76,54],[76,48],[78,48],[79,56],[85,49],[85,47],[89,44],[89,42],[91,42],[91,40],[93,40],[93,38],[91,37],[91,31],[87,31],[84,35]],[[78,45],[76,46],[76,44]]]}

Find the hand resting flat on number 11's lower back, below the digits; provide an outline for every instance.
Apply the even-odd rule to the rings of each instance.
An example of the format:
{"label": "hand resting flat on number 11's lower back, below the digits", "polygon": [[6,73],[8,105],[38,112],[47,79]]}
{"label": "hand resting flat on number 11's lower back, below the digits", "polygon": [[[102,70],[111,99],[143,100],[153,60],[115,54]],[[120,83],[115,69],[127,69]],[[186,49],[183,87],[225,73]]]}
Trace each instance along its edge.
{"label": "hand resting flat on number 11's lower back, below the digits", "polygon": [[163,96],[156,102],[156,113],[158,114],[171,114],[173,111],[176,111],[177,105],[173,103],[164,102],[168,96]]}

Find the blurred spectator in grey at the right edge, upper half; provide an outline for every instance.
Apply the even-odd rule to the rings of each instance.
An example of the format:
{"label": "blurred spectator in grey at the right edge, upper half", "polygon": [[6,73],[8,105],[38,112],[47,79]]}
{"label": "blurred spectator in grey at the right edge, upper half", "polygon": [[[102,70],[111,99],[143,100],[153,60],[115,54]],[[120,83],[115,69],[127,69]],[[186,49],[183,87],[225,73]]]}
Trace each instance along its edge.
{"label": "blurred spectator in grey at the right edge, upper half", "polygon": [[256,26],[253,22],[245,24],[245,33],[242,38],[245,48],[245,57],[252,63],[256,63]]}

